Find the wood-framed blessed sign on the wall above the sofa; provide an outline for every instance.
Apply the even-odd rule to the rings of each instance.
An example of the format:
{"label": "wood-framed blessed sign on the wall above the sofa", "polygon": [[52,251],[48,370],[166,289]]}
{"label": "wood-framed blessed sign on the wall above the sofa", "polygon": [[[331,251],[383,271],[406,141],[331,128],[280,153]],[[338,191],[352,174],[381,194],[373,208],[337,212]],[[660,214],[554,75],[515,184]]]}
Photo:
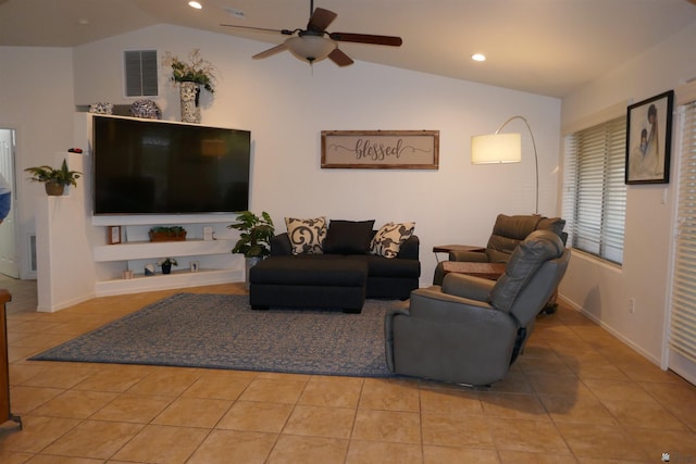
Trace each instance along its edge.
{"label": "wood-framed blessed sign on the wall above the sofa", "polygon": [[322,130],[323,168],[437,170],[439,130]]}

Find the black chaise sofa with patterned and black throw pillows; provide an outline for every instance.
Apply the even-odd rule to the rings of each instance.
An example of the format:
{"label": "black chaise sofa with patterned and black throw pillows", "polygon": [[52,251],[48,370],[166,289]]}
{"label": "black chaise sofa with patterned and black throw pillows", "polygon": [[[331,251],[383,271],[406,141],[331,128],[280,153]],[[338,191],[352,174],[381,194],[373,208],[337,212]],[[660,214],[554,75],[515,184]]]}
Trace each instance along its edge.
{"label": "black chaise sofa with patterned and black throw pillows", "polygon": [[327,225],[323,217],[286,218],[286,224],[288,231],[271,240],[271,256],[249,272],[252,308],[359,312],[365,298],[407,300],[419,287],[420,241],[413,223],[387,223],[378,230],[373,230],[374,221]]}

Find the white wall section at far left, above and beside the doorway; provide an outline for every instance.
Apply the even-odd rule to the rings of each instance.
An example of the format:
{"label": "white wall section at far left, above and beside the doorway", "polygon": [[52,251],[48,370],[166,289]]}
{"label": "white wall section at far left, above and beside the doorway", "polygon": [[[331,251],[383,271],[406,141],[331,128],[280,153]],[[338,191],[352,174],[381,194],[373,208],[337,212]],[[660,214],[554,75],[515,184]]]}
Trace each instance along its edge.
{"label": "white wall section at far left, above and beside the doorway", "polygon": [[16,129],[16,200],[20,272],[29,272],[28,238],[36,230],[36,198],[25,167],[53,163],[73,143],[73,52],[62,48],[0,47],[0,127]]}

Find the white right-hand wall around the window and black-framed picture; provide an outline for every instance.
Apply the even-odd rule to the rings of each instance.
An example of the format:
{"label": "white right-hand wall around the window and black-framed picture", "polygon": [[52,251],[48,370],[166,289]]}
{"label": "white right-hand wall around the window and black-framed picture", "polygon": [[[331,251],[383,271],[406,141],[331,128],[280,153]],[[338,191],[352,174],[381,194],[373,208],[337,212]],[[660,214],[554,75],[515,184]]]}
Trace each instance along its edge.
{"label": "white right-hand wall around the window and black-framed picture", "polygon": [[[696,23],[676,32],[562,101],[562,126],[675,89],[696,77]],[[617,114],[625,114],[625,111]],[[674,122],[678,118],[674,116]],[[671,181],[627,187],[624,263],[621,268],[574,253],[561,294],[655,363],[666,359],[678,152],[673,126]],[[662,201],[664,199],[664,202]],[[635,298],[635,314],[629,299]],[[696,372],[695,372],[696,374]]]}

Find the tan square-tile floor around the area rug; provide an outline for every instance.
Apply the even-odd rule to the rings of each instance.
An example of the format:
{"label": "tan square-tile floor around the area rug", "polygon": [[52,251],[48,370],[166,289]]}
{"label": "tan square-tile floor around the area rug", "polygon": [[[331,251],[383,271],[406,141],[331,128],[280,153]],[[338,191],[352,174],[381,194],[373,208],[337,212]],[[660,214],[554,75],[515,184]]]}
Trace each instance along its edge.
{"label": "tan square-tile floor around the area rug", "polygon": [[24,422],[0,426],[2,463],[696,463],[696,387],[562,305],[539,316],[504,381],[469,389],[26,361],[175,291],[45,314],[34,283],[0,287],[14,297],[11,401]]}

